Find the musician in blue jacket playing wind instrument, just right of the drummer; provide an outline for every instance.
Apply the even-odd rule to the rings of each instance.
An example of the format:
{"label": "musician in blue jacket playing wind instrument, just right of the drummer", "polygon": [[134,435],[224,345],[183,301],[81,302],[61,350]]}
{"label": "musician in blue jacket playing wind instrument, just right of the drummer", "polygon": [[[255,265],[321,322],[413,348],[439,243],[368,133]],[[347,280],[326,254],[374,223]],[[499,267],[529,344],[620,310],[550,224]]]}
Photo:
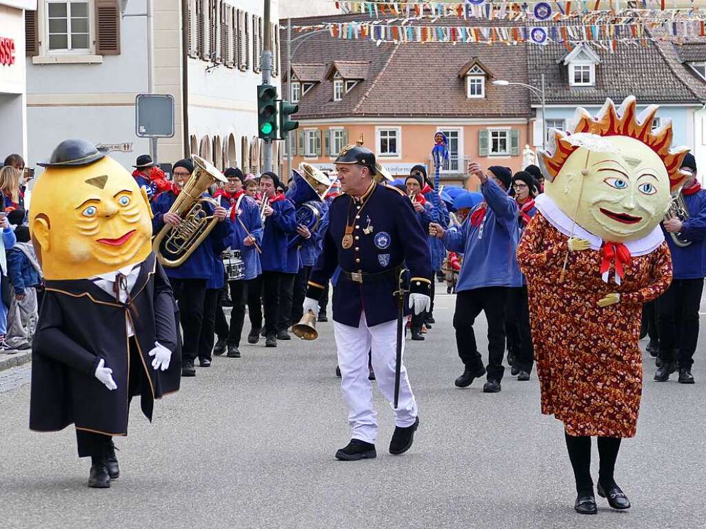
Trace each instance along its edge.
{"label": "musician in blue jacket playing wind instrument, just right of the drummer", "polygon": [[[265,312],[265,346],[277,347],[277,323],[280,312],[280,283],[289,281],[294,259],[287,251],[289,236],[297,232],[297,218],[294,205],[283,194],[277,194],[279,177],[273,172],[265,172],[260,177],[260,191],[268,198],[268,206],[263,210],[262,264],[263,306]],[[297,271],[299,270],[297,252]],[[295,272],[296,273],[296,272]],[[291,311],[291,306],[289,311]],[[287,314],[289,316],[289,314]],[[253,328],[256,323],[253,322]]]}

